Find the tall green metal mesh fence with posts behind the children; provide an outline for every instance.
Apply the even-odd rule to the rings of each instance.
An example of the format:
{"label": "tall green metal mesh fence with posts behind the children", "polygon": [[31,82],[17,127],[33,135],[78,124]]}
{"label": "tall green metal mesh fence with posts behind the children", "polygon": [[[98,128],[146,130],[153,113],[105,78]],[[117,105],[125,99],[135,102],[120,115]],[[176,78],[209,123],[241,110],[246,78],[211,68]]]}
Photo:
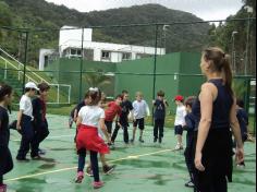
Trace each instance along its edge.
{"label": "tall green metal mesh fence with posts behind the children", "polygon": [[[135,92],[140,91],[149,105],[156,93],[163,89],[170,101],[170,110],[174,112],[174,96],[197,95],[200,84],[205,82],[199,69],[200,51],[218,44],[212,39],[216,33],[211,31],[212,24],[247,24],[255,20],[247,17],[65,28],[0,26],[0,31],[12,32],[11,37],[19,41],[13,48],[8,45],[8,39],[0,39],[0,77],[13,84],[16,91],[20,89],[16,100],[27,81],[49,82],[52,84],[51,103],[65,110],[81,100],[90,86],[99,86],[109,97],[127,89],[131,99],[134,99]],[[255,113],[256,85],[253,82],[256,56],[253,52],[256,50],[256,37],[253,36],[245,45],[236,41],[236,36],[233,36],[235,29],[228,32],[230,35],[225,40],[230,44],[224,49],[231,52],[233,59],[234,89],[245,100],[247,110]],[[69,32],[76,33],[76,39],[68,38],[61,44],[62,33]],[[237,38],[248,36],[236,35]],[[39,52],[44,53],[39,56]],[[38,70],[40,59],[45,63],[44,70],[40,69],[42,71]],[[50,111],[56,111],[57,107],[53,106]],[[254,128],[255,121],[253,116]]]}

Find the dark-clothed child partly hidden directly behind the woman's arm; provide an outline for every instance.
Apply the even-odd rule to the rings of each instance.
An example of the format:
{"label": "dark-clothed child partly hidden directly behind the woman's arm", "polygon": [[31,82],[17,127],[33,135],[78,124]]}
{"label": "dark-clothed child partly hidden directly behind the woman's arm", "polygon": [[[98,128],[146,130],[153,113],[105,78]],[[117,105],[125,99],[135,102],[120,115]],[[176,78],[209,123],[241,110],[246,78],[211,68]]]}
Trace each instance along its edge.
{"label": "dark-clothed child partly hidden directly behind the woman's arm", "polygon": [[195,118],[192,113],[192,106],[195,101],[195,97],[188,97],[185,101],[186,116],[185,116],[185,125],[184,130],[187,131],[186,134],[186,148],[185,148],[185,163],[187,170],[189,172],[191,180],[185,183],[187,188],[194,188],[194,130],[195,130]]}

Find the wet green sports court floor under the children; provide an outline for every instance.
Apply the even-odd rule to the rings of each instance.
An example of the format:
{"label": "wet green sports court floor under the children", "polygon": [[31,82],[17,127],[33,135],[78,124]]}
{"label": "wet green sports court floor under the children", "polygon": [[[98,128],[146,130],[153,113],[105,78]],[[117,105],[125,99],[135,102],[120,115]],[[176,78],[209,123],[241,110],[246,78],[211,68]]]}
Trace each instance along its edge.
{"label": "wet green sports court floor under the children", "polygon": [[[16,118],[13,113],[11,119]],[[85,177],[76,184],[77,155],[73,137],[75,129],[68,128],[68,117],[49,115],[50,135],[40,145],[47,151],[41,160],[17,163],[15,155],[20,145],[17,132],[11,131],[10,147],[14,158],[14,169],[5,175],[9,192],[85,192],[95,191],[93,178]],[[130,130],[132,131],[132,129]],[[152,143],[152,128],[145,131],[145,143],[135,142],[125,146],[122,130],[114,149],[107,156],[109,164],[115,165],[110,176],[103,176],[102,192],[191,192],[184,183],[188,176],[183,152],[174,152],[175,137],[172,129],[166,129],[162,145]],[[246,143],[246,168],[235,168],[234,182],[229,184],[230,192],[256,191],[256,145]],[[87,158],[88,159],[88,158]],[[101,167],[100,163],[99,166]]]}

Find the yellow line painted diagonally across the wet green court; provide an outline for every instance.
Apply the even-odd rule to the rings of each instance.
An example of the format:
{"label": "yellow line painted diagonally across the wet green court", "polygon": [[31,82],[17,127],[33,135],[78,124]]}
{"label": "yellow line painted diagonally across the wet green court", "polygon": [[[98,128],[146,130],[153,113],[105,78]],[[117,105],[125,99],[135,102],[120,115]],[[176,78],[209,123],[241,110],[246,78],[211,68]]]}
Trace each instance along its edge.
{"label": "yellow line painted diagonally across the wet green court", "polygon": [[[115,163],[115,161],[122,161],[122,160],[128,160],[128,159],[137,159],[139,157],[151,156],[151,155],[161,154],[161,153],[166,153],[166,152],[175,152],[175,149],[163,149],[163,151],[158,151],[158,152],[152,152],[152,153],[147,153],[147,154],[142,154],[142,155],[130,155],[127,157],[123,157],[123,158],[119,158],[119,159],[114,159],[114,160],[109,160],[108,163]],[[7,180],[4,180],[4,182],[19,181],[19,180],[23,180],[23,179],[35,178],[38,176],[51,175],[51,173],[56,173],[56,172],[62,172],[62,171],[74,170],[74,169],[77,169],[77,167],[69,167],[69,168],[57,169],[57,170],[51,170],[51,171],[38,172],[38,173],[34,173],[34,175],[21,176],[21,177],[16,177],[16,178],[12,178],[12,179],[7,179]]]}

